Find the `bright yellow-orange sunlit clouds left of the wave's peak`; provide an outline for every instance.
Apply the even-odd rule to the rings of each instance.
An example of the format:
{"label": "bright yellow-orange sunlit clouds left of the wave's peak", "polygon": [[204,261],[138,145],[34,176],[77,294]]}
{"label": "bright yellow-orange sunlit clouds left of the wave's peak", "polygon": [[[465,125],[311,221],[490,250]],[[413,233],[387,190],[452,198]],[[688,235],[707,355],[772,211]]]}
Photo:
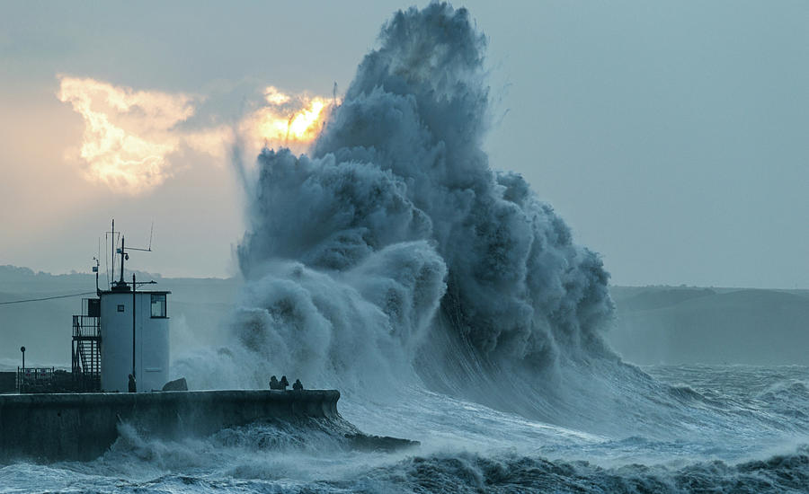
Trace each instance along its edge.
{"label": "bright yellow-orange sunlit clouds left of the wave's peak", "polygon": [[186,148],[224,162],[236,135],[250,152],[262,146],[304,151],[335,102],[268,86],[262,101],[236,124],[213,119],[189,129],[183,124],[196,116],[204,96],[136,91],[65,75],[59,82],[59,101],[84,119],[82,143],[69,157],[81,163],[87,180],[129,195],[152,190],[170,178],[177,169],[173,162]]}

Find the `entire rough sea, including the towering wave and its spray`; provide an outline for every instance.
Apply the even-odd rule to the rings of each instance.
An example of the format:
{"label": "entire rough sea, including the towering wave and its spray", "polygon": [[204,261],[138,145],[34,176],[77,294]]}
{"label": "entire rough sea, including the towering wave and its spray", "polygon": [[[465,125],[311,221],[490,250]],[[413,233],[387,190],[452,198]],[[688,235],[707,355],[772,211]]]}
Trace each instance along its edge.
{"label": "entire rough sea, including the towering wave and its spray", "polygon": [[[93,462],[0,466],[0,493],[809,492],[809,368],[609,348],[600,256],[484,151],[486,44],[465,9],[395,13],[307,154],[234,153],[244,288],[227,327],[187,328],[216,343],[174,345],[172,375],[286,374],[339,389],[342,420],[124,426]],[[354,427],[421,445],[355,450]]]}

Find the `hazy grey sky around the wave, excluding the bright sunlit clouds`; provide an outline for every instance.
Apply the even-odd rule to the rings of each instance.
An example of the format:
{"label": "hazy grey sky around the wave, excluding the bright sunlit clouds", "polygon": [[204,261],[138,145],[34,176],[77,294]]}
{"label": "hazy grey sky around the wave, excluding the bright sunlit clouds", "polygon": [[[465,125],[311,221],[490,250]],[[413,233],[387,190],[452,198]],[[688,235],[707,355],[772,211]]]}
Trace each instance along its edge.
{"label": "hazy grey sky around the wave, excluding the bright sunlit clouds", "polygon": [[[239,84],[344,89],[408,5],[4,4],[0,264],[87,269],[115,216],[135,243],[156,221],[138,268],[233,272],[229,164],[186,153],[135,198],[88,183],[65,163],[84,125],[57,75],[219,92],[207,112],[236,119]],[[490,39],[493,167],[522,173],[614,283],[809,287],[809,4],[466,5]]]}

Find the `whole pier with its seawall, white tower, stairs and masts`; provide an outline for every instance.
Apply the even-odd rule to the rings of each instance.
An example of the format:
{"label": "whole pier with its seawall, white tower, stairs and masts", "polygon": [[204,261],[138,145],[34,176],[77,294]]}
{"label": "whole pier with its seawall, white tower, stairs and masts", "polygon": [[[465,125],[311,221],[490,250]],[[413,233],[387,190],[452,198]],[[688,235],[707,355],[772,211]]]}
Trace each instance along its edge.
{"label": "whole pier with its seawall, white tower, stairs and masts", "polygon": [[127,247],[122,235],[117,242],[114,222],[109,233],[113,262],[104,289],[99,240],[96,296],[83,298],[82,312],[73,316],[72,371],[23,364],[18,393],[0,393],[0,464],[20,457],[92,460],[109,450],[122,422],[138,434],[207,437],[256,420],[339,417],[337,390],[188,391],[184,379],[166,386],[171,292],[147,289],[156,283],[135,273],[125,276],[130,251],[151,251],[151,241],[148,249]]}

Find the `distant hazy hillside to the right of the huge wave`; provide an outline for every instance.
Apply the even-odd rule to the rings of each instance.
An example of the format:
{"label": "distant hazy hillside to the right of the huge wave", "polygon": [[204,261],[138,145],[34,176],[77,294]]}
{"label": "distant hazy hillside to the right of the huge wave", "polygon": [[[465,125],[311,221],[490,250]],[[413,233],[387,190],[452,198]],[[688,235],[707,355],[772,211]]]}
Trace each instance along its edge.
{"label": "distant hazy hillside to the right of the huge wave", "polygon": [[809,365],[809,291],[613,287],[608,340],[637,364]]}

